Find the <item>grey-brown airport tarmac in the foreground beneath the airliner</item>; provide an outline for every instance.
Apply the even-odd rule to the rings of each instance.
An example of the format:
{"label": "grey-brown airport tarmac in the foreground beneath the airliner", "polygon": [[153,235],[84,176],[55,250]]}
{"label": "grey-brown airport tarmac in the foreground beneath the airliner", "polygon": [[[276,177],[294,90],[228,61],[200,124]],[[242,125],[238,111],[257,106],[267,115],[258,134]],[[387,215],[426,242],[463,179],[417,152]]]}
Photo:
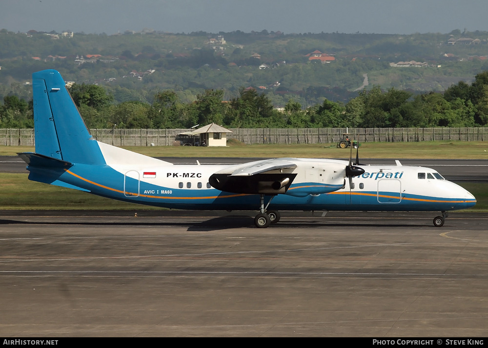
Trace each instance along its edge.
{"label": "grey-brown airport tarmac in the foreground beneath the airliner", "polygon": [[157,213],[1,212],[0,336],[488,335],[486,213]]}

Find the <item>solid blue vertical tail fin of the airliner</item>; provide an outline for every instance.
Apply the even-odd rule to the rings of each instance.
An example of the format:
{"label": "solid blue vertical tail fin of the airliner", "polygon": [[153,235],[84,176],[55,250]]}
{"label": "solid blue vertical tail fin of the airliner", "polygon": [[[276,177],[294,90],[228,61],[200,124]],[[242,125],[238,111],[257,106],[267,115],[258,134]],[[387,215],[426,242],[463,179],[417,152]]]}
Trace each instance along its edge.
{"label": "solid blue vertical tail fin of the airliner", "polygon": [[56,70],[34,73],[32,86],[36,154],[72,163],[105,164],[61,74]]}

